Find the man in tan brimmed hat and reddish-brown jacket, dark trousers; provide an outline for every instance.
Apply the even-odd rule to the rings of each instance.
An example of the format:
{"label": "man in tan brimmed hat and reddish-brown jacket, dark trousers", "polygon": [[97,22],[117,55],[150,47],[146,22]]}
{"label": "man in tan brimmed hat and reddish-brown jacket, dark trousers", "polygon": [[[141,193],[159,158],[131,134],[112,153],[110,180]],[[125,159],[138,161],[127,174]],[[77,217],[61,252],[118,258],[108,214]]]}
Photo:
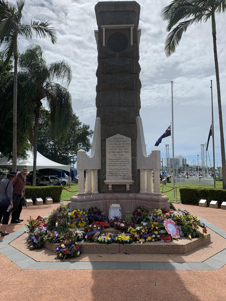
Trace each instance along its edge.
{"label": "man in tan brimmed hat and reddish-brown jacket, dark trousers", "polygon": [[22,168],[20,173],[17,173],[17,176],[13,182],[13,206],[14,211],[12,213],[11,223],[20,223],[23,222],[23,219],[20,219],[20,213],[22,211],[23,200],[24,200],[24,188],[26,185],[26,175],[30,172],[27,171],[27,168]]}

